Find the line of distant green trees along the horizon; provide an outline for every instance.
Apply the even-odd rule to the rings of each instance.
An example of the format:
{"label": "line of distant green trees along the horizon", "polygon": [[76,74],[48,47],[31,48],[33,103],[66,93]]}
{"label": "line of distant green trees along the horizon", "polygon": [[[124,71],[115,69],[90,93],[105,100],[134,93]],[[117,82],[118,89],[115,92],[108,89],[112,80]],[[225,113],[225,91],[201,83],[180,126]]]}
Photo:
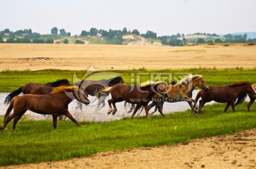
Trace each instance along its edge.
{"label": "line of distant green trees along the horizon", "polygon": [[[69,32],[66,32],[65,29],[58,29],[56,27],[53,27],[50,30],[51,35],[65,35],[70,36],[71,34]],[[141,37],[153,39],[153,40],[159,40],[161,41],[162,45],[171,45],[171,46],[183,46],[188,45],[188,43],[196,43],[196,44],[202,44],[202,43],[251,43],[256,42],[255,39],[247,38],[247,34],[244,35],[223,35],[224,38],[221,38],[219,35],[213,33],[194,33],[193,35],[208,35],[210,37],[214,37],[213,40],[206,40],[204,38],[198,38],[197,40],[188,40],[186,39],[186,36],[182,33],[177,33],[176,35],[168,35],[168,36],[157,36],[156,33],[154,33],[151,30],[147,30],[146,33],[141,34],[139,33],[139,30],[127,30],[127,28],[123,28],[122,30],[103,30],[103,29],[97,29],[97,28],[90,28],[90,30],[82,30],[80,35],[75,35],[75,37],[86,37],[86,36],[101,36],[105,37],[107,40],[114,40],[115,44],[122,44],[122,37],[123,35],[138,35]],[[41,38],[40,33],[33,33],[33,31],[30,29],[24,29],[24,30],[16,30],[15,32],[4,29],[0,31],[0,43],[4,43],[3,37],[6,37],[5,42],[6,43],[53,43],[53,39],[45,39]],[[9,37],[9,38],[7,38]],[[63,40],[63,43],[68,43],[68,40]],[[84,43],[81,40],[76,40],[75,43]]]}

